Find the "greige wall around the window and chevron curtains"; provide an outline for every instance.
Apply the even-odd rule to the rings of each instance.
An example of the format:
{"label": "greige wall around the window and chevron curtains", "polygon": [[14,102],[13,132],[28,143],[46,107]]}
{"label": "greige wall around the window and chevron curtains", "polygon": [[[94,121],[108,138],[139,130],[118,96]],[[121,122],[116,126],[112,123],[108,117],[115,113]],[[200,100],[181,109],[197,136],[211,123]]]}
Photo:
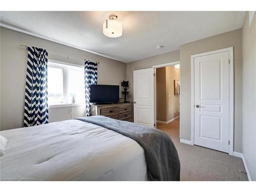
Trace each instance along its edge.
{"label": "greige wall around the window and chevron curtains", "polygon": [[[20,44],[45,48],[49,52],[99,61],[98,83],[121,84],[125,80],[125,63],[98,56],[86,51],[63,46],[52,41],[19,33],[1,27],[1,130],[23,126],[24,93],[27,66],[27,51]],[[83,66],[82,60],[70,59],[49,53],[49,59],[70,62]],[[49,109],[49,121],[71,119],[72,109]],[[74,117],[84,116],[84,106],[74,106]]]}

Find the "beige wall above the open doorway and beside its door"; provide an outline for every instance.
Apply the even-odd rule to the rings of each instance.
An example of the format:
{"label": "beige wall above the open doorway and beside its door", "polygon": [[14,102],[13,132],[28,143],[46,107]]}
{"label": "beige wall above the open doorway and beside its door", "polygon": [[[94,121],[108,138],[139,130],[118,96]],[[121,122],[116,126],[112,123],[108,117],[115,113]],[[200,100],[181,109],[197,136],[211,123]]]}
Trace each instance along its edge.
{"label": "beige wall above the open doorway and beside its door", "polygon": [[129,96],[127,100],[133,101],[133,71],[139,69],[152,68],[167,62],[174,62],[180,60],[180,51],[172,51],[152,57],[147,57],[137,61],[126,63],[126,80],[129,81]]}

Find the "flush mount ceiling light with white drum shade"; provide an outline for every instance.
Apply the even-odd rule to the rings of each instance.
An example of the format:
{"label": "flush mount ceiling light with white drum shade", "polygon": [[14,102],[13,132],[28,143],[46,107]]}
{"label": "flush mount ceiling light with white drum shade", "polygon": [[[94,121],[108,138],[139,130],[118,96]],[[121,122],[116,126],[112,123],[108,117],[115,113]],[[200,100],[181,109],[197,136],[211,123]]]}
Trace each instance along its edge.
{"label": "flush mount ceiling light with white drum shade", "polygon": [[103,34],[107,37],[120,37],[123,34],[123,25],[118,22],[116,15],[110,15],[103,23]]}

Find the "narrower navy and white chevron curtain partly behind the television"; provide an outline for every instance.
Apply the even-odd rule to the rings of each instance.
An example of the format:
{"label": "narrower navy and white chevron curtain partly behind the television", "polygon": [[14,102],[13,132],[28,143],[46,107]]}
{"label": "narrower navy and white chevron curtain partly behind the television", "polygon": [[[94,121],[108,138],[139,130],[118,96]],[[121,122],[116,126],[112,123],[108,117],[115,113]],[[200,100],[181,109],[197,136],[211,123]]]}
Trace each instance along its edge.
{"label": "narrower navy and white chevron curtain partly behind the television", "polygon": [[91,84],[97,84],[98,65],[95,61],[84,61],[84,80],[86,84],[86,116],[90,116],[90,91]]}

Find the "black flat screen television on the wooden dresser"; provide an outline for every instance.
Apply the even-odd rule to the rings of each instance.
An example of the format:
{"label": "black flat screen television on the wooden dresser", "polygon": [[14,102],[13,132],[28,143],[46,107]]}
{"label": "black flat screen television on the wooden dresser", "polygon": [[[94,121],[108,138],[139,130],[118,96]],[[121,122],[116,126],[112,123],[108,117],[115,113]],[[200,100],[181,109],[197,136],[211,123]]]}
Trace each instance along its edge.
{"label": "black flat screen television on the wooden dresser", "polygon": [[91,103],[114,103],[119,101],[119,86],[91,84]]}

